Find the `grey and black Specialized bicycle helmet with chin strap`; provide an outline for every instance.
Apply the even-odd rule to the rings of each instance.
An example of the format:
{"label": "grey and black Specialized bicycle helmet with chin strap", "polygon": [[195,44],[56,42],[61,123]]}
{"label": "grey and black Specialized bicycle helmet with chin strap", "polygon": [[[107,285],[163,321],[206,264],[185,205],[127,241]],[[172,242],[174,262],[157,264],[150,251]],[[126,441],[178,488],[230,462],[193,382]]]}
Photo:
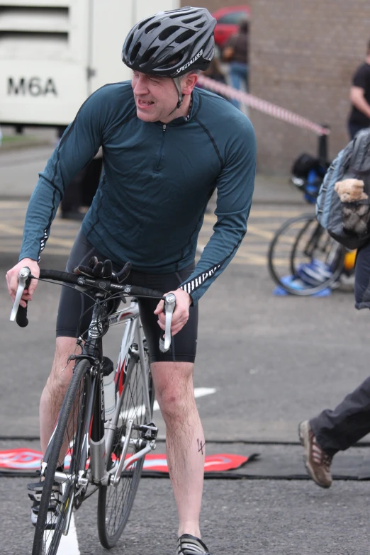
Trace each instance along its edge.
{"label": "grey and black Specialized bicycle helmet with chin strap", "polygon": [[[122,60],[138,72],[172,77],[179,94],[178,77],[192,69],[207,69],[215,51],[213,31],[216,20],[206,8],[181,8],[159,11],[143,19],[128,33]],[[174,109],[176,109],[174,108]]]}

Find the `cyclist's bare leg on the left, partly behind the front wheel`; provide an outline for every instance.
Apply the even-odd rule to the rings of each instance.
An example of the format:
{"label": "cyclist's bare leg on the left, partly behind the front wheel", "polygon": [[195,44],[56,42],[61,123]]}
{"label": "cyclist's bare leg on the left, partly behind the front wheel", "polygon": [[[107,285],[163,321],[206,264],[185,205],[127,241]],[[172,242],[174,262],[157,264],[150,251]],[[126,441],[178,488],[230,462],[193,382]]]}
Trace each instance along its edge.
{"label": "cyclist's bare leg on the left, partly behind the front wheel", "polygon": [[52,371],[40,399],[40,439],[43,454],[72,378],[74,361],[67,364],[67,358],[75,349],[76,340],[73,337],[57,337]]}

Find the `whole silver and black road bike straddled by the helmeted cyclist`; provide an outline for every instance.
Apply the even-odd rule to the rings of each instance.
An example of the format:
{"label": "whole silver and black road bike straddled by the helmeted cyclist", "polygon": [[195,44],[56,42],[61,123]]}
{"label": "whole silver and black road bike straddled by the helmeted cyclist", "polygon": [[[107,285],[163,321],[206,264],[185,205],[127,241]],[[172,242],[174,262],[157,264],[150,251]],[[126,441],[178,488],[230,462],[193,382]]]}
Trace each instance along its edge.
{"label": "whole silver and black road bike straddled by the helmeted cyclist", "polygon": [[[133,298],[123,310],[118,305],[125,296],[163,297],[159,291],[120,284],[126,274],[123,269],[116,279],[96,279],[40,272],[40,279],[78,285],[94,297],[95,304],[89,330],[77,341],[81,354],[69,357],[77,362],[41,465],[42,482],[29,486],[30,497],[38,504],[33,555],[57,554],[72,510],[79,509],[96,490],[99,539],[104,547],[113,547],[130,515],[145,454],[155,449],[155,393],[138,301]],[[23,327],[28,323],[26,310],[18,305],[29,279],[30,271],[21,270],[11,313],[11,320],[16,318]],[[160,348],[166,351],[171,342],[174,295],[169,293],[164,303],[166,335]],[[102,337],[110,325],[118,323],[125,323],[125,330],[114,371],[113,362],[103,357]],[[110,381],[104,383],[105,378]]]}

